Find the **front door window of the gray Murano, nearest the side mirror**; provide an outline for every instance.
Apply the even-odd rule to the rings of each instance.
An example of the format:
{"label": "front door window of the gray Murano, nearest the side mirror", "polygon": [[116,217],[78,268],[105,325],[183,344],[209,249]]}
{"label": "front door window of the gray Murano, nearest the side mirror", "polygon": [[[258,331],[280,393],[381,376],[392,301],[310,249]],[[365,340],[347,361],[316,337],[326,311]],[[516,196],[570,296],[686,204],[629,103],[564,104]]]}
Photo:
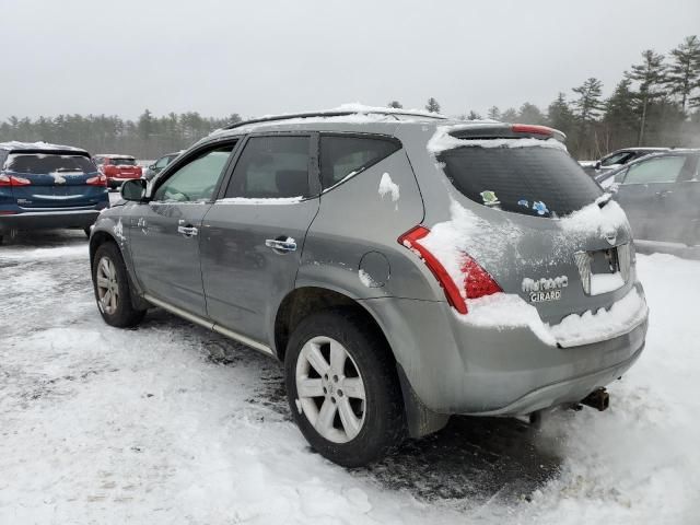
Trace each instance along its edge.
{"label": "front door window of the gray Murano, nearest the side mirror", "polygon": [[180,166],[158,187],[153,200],[194,202],[211,200],[235,144],[205,151]]}

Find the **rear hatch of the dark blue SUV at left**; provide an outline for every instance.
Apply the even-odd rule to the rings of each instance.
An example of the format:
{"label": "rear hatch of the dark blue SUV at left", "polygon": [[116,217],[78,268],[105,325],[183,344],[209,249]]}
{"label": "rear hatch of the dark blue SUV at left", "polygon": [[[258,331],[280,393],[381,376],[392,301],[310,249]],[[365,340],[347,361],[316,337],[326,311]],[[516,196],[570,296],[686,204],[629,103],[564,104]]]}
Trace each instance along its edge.
{"label": "rear hatch of the dark blue SUV at left", "polygon": [[105,199],[105,178],[88,153],[14,151],[2,174],[25,209],[81,208]]}

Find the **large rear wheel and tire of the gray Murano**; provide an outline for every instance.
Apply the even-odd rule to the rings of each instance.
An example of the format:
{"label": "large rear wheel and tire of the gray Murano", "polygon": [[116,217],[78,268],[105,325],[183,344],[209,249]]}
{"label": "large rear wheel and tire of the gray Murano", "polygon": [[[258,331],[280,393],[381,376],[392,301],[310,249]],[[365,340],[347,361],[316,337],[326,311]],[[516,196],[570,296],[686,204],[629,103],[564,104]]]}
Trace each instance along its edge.
{"label": "large rear wheel and tire of the gray Murano", "polygon": [[366,317],[348,308],[303,319],[284,358],[287,395],[311,446],[338,465],[381,459],[405,435],[394,358]]}

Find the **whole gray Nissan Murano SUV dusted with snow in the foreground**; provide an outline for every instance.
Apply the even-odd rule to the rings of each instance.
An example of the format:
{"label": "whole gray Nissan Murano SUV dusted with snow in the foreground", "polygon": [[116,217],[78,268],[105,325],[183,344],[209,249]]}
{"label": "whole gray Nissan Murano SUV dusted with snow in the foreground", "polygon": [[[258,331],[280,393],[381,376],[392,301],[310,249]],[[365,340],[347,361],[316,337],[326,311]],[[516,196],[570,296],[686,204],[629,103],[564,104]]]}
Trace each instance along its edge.
{"label": "whole gray Nissan Murano SUV dusted with snow in the foreground", "polygon": [[97,306],[282,361],[302,433],[345,466],[451,415],[604,409],[648,308],[625,213],[562,140],[398,110],[233,125],[100,215]]}

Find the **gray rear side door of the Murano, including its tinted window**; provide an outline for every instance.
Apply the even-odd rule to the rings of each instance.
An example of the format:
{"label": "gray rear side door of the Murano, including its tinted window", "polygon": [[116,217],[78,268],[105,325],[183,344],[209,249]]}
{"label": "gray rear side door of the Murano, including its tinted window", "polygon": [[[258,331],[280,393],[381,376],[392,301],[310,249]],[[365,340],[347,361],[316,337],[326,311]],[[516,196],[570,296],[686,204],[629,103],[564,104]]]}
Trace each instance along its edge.
{"label": "gray rear side door of the Murano, including its tinted window", "polygon": [[316,144],[308,133],[248,138],[223,198],[202,224],[209,317],[266,345],[318,211]]}

